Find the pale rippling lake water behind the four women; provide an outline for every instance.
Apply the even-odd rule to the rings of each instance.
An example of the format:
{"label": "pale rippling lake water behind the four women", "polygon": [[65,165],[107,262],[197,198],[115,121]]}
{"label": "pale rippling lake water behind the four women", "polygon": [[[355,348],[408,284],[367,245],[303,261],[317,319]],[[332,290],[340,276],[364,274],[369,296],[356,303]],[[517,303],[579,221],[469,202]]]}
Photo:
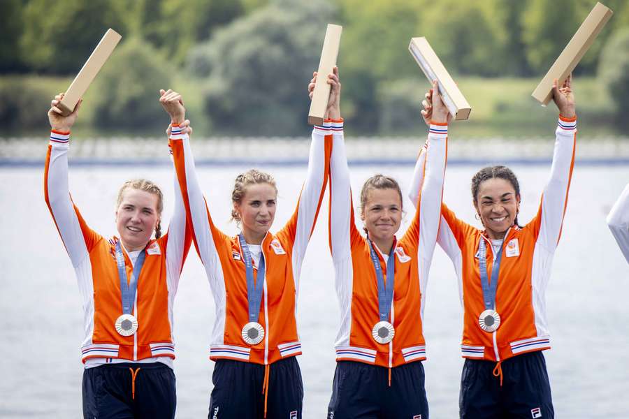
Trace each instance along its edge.
{"label": "pale rippling lake water behind the four women", "polygon": [[[447,170],[444,201],[459,217],[476,222],[469,184],[478,166]],[[228,223],[233,178],[244,167],[198,169],[217,225]],[[273,230],[294,210],[305,167],[268,167],[280,190]],[[393,175],[403,185],[412,166],[352,167],[359,191],[374,172]],[[519,176],[521,222],[535,214],[549,166],[512,166]],[[167,166],[75,167],[71,192],[88,223],[103,235],[115,233],[117,189],[131,177],[161,184],[167,220],[173,181]],[[43,200],[42,170],[0,168],[5,235],[0,253],[0,417],[78,418],[81,416],[80,342],[82,309],[74,271]],[[629,182],[629,166],[574,168],[563,235],[547,291],[553,346],[546,351],[558,418],[629,418],[629,265],[605,224],[609,208]],[[333,342],[338,304],[327,246],[327,197],[302,269],[298,326],[303,340],[301,365],[304,418],[324,418],[335,368]],[[412,218],[405,202],[403,228]],[[192,250],[175,300],[178,418],[208,413],[213,363],[208,360],[213,300],[201,263]],[[459,352],[461,307],[454,269],[435,251],[424,316],[426,392],[431,418],[458,417],[463,360]]]}

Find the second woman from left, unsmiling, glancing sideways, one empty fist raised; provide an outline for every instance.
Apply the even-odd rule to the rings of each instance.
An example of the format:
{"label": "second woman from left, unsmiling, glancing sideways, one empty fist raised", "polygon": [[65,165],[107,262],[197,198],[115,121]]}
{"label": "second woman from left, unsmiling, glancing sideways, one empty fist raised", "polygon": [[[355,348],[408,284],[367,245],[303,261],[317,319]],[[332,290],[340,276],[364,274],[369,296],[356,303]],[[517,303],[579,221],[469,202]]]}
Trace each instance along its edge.
{"label": "second woman from left, unsmiling, glancing sideways, one empty fist raised", "polygon": [[[330,101],[337,96],[333,88]],[[171,116],[175,169],[215,300],[210,360],[216,364],[208,417],[301,419],[296,303],[301,264],[327,183],[331,121],[312,131],[297,207],[277,233],[270,233],[277,207],[273,177],[255,169],[236,177],[231,215],[240,233],[230,237],[215,226],[210,209],[217,204],[206,203],[196,177],[181,95],[161,91],[160,102]]]}

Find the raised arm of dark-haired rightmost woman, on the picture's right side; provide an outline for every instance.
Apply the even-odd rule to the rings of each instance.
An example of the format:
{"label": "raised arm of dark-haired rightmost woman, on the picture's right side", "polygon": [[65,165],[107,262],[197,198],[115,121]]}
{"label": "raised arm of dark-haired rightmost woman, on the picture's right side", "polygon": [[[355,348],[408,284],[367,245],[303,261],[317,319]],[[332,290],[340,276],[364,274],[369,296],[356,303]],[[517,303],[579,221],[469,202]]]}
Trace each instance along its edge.
{"label": "raised arm of dark-haired rightmost woman, on the picture's right side", "polygon": [[559,109],[559,122],[556,129],[551,174],[542,193],[540,210],[528,225],[532,226],[537,233],[537,242],[550,252],[555,251],[561,236],[567,194],[574,167],[577,114],[572,93],[572,76],[569,76],[561,87],[555,80],[553,100]]}

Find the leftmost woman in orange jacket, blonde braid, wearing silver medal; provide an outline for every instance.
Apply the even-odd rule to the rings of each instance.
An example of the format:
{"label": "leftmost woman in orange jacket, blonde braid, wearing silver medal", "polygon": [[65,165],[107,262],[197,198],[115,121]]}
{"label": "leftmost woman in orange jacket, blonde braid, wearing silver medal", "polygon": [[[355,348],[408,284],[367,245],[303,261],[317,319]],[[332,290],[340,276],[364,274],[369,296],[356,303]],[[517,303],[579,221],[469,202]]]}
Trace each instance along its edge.
{"label": "leftmost woman in orange jacket, blonde braid, wearing silver medal", "polygon": [[52,131],[44,193],[85,309],[83,416],[174,418],[173,300],[191,244],[181,194],[175,193],[164,237],[162,193],[146,179],[126,182],[118,193],[120,238],[108,240],[89,228],[68,190],[70,128],[80,103],[63,117],[57,107],[62,97],[57,95],[48,111]]}

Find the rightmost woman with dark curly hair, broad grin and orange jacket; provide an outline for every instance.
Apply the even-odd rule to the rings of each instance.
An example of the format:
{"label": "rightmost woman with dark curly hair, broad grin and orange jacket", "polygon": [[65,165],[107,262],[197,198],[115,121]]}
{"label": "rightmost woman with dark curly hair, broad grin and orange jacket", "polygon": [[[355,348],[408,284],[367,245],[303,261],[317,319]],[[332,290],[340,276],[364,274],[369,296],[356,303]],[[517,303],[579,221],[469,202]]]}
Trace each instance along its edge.
{"label": "rightmost woman with dark curly hair, broad grin and orange jacket", "polygon": [[[454,263],[463,305],[465,358],[461,418],[553,418],[542,351],[549,349],[545,292],[557,247],[574,165],[577,133],[572,78],[553,86],[559,110],[549,182],[537,214],[520,226],[520,187],[505,166],[472,177],[472,204],[483,229],[442,204],[438,243]],[[430,98],[425,112],[432,112]],[[423,180],[416,165],[411,200]]]}

